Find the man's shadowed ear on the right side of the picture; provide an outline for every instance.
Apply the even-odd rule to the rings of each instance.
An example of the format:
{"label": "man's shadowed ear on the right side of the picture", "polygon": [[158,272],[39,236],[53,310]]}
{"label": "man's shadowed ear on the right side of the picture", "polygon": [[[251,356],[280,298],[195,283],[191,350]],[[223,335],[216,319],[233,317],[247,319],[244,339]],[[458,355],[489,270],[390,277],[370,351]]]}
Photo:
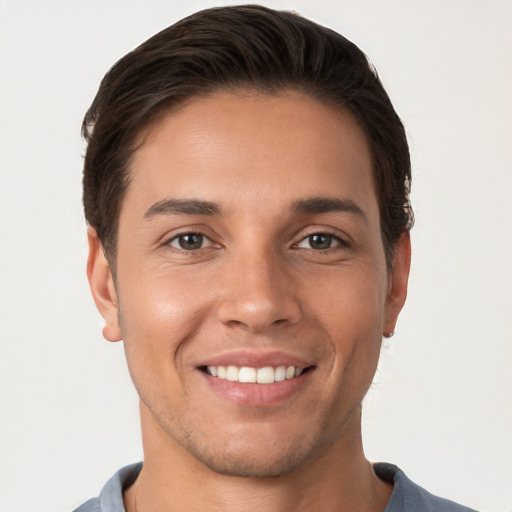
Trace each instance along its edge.
{"label": "man's shadowed ear on the right side of the picture", "polygon": [[384,336],[391,336],[395,332],[398,315],[402,310],[407,297],[407,283],[411,267],[411,238],[409,231],[404,230],[395,244],[393,264],[388,283],[384,313]]}

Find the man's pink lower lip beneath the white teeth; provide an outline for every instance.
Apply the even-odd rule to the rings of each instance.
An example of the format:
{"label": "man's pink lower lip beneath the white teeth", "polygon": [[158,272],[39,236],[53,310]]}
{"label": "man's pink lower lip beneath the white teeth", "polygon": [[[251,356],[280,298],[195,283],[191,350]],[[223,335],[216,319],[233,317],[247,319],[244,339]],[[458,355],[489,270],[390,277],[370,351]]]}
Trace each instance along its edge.
{"label": "man's pink lower lip beneath the white teeth", "polygon": [[312,370],[293,379],[272,384],[251,384],[233,382],[208,373],[200,372],[211,389],[221,397],[239,405],[248,407],[271,407],[289,399],[298,393],[309,380]]}

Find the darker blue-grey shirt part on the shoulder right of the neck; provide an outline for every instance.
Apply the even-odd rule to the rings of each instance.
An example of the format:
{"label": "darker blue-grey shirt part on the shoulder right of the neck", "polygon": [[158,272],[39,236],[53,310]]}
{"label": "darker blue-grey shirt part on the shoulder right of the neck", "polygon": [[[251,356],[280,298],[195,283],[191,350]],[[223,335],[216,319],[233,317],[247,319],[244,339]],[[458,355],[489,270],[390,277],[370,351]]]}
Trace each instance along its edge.
{"label": "darker blue-grey shirt part on the shoulder right of the neck", "polygon": [[386,482],[394,483],[395,488],[384,512],[476,512],[453,501],[434,496],[415,484],[392,464],[374,464],[377,476]]}

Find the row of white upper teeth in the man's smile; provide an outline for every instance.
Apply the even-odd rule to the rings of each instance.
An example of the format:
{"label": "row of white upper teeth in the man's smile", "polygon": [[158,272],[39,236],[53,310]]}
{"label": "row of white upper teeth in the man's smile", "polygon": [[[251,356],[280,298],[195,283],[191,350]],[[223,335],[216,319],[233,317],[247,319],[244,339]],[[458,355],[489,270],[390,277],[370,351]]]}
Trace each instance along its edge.
{"label": "row of white upper teeth in the man's smile", "polygon": [[231,382],[249,382],[258,384],[272,384],[286,379],[293,379],[304,372],[304,368],[298,366],[264,366],[263,368],[251,368],[250,366],[207,366],[207,373]]}

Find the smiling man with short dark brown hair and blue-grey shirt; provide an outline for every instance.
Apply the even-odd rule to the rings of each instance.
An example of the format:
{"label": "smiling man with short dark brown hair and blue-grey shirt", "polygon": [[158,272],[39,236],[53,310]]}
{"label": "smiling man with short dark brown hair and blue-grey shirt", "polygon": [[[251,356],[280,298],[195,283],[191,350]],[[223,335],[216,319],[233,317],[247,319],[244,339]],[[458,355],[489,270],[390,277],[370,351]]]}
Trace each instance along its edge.
{"label": "smiling man with short dark brown hair and blue-grey shirt", "polygon": [[110,70],[84,135],[88,277],[144,465],[79,512],[469,510],[362,449],[413,218],[403,126],[357,47],[202,11]]}

